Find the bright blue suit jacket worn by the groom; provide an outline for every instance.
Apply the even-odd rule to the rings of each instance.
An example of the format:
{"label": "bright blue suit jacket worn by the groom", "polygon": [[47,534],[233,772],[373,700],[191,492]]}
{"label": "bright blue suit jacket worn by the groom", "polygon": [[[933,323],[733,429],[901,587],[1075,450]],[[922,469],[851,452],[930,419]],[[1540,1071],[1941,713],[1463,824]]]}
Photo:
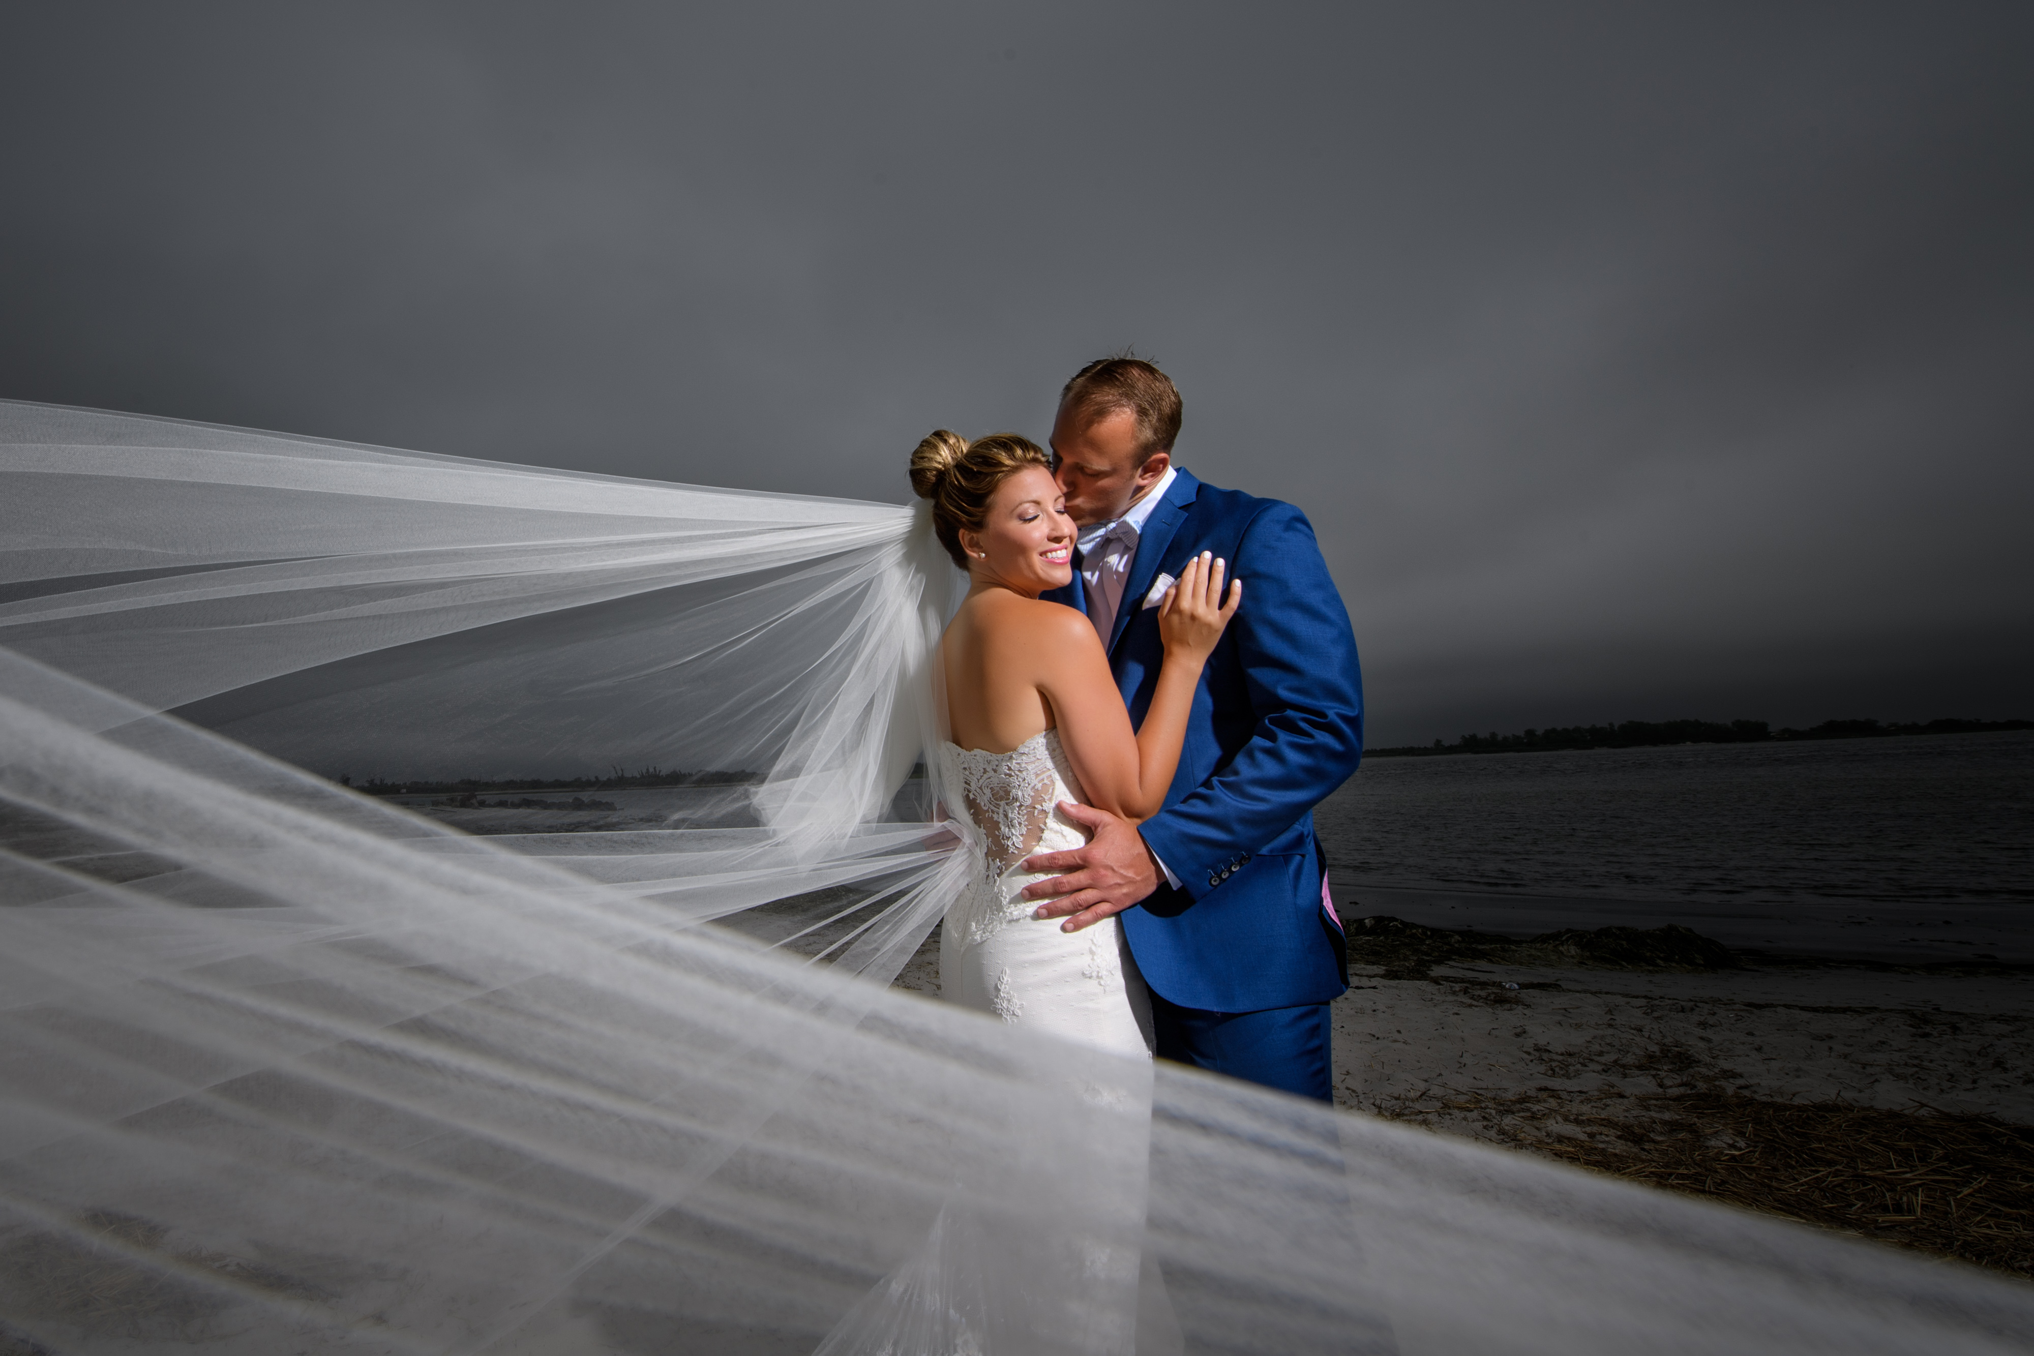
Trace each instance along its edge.
{"label": "bright blue suit jacket worn by the groom", "polygon": [[[1347,982],[1320,911],[1314,805],[1363,758],[1357,638],[1306,514],[1180,472],[1139,535],[1109,640],[1133,726],[1163,661],[1143,598],[1200,551],[1243,579],[1243,608],[1200,675],[1165,807],[1141,825],[1182,888],[1159,882],[1123,929],[1145,982],[1180,1006],[1326,1002]],[[1080,571],[1045,598],[1086,612]]]}

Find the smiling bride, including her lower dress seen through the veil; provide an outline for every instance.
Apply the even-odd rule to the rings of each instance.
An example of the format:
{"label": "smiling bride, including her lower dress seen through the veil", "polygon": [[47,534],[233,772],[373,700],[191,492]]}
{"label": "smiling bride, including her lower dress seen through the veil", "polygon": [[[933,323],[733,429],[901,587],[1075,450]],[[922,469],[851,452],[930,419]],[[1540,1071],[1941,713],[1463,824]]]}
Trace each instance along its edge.
{"label": "smiling bride, including her lower dress seen through the veil", "polygon": [[[1039,598],[1074,571],[1074,520],[1045,453],[1015,433],[968,443],[938,429],[911,453],[911,486],[932,502],[934,535],[968,575],[932,675],[942,697],[940,785],[958,803],[948,821],[962,834],[968,868],[940,933],[942,996],[1104,1055],[1149,1059],[1151,994],[1117,919],[1080,929],[1037,917],[1023,888],[1039,876],[1023,862],[1041,848],[1086,842],[1062,803],[1131,821],[1159,809],[1202,665],[1243,583],[1233,581],[1224,602],[1224,561],[1204,555],[1182,569],[1157,604],[1163,667],[1133,734],[1094,626]],[[1117,1096],[1102,1100],[1121,1106],[1149,1098],[1123,1098],[1137,1080],[1096,1077],[1078,1057],[1045,1082],[1086,1098],[1113,1086]],[[1141,1230],[1147,1163],[1139,1153],[1117,1155],[1106,1177],[1111,1195],[1131,1206],[1115,1212],[1117,1236],[1096,1230],[1096,1220],[1066,1216],[1029,1240],[1031,1256],[1023,1238],[986,1226],[968,1193],[952,1193],[915,1254],[850,1309],[818,1356],[1043,1350],[1043,1332],[1058,1323],[1029,1311],[1027,1289],[1078,1297],[1088,1313],[1074,1328],[1109,1350],[1182,1350],[1155,1258],[1121,1236],[1125,1224]],[[1078,1256],[1078,1275],[995,1299],[976,1293],[989,1275],[1048,1277],[1054,1254]]]}

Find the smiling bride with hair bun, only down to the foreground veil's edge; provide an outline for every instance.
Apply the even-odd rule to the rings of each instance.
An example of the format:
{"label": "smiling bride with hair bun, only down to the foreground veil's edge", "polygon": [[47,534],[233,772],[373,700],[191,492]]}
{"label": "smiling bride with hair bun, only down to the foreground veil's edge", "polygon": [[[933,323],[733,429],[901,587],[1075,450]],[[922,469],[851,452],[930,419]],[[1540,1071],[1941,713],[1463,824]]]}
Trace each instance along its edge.
{"label": "smiling bride with hair bun, only down to the foreground veil's edge", "polygon": [[946,785],[978,860],[948,907],[940,984],[950,1002],[1125,1055],[1149,1055],[1151,996],[1115,917],[1086,931],[1039,919],[1019,862],[1084,842],[1058,805],[1153,815],[1172,785],[1200,669],[1243,600],[1224,563],[1194,559],[1159,604],[1165,665],[1143,726],[1109,675],[1094,626],[1039,594],[1074,573],[1074,520],[1043,449],[1015,433],[974,443],[940,429],[911,453],[911,486],[968,573],[940,638]]}

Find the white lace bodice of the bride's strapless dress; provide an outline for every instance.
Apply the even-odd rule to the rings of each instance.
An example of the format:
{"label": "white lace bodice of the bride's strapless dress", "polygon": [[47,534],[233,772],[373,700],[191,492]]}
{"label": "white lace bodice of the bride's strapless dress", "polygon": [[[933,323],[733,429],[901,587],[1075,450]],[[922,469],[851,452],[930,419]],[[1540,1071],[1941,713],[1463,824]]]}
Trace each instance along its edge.
{"label": "white lace bodice of the bride's strapless dress", "polygon": [[[976,886],[966,901],[956,901],[962,909],[974,905],[966,909],[968,931],[980,933],[1003,921],[1011,911],[1009,899],[1029,880],[1007,880],[1017,862],[1039,850],[1056,852],[1086,842],[1074,821],[1054,813],[1060,801],[1082,799],[1080,779],[1066,760],[1058,730],[1041,730],[1007,754],[946,742],[940,752],[946,758],[946,795],[960,801],[950,809],[962,809],[980,829]],[[1029,905],[1019,901],[1015,913],[1027,911]]]}

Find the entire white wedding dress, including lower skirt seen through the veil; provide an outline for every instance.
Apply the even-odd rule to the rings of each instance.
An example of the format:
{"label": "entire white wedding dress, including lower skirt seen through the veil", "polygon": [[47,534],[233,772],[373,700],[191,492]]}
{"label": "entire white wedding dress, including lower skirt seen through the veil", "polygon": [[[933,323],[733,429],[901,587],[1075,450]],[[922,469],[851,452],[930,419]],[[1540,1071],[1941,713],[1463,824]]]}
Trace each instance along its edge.
{"label": "entire white wedding dress, including lower skirt seen through the veil", "polygon": [[[962,838],[966,866],[940,933],[942,996],[991,1012],[1009,1027],[1068,1041],[1048,1055],[1039,1092],[1070,1104],[1141,1118],[1149,1108],[1151,996],[1117,919],[1078,933],[1033,917],[1023,870],[1033,852],[1086,844],[1060,801],[1084,801],[1058,730],[1041,730],[1009,752],[938,746],[940,785]],[[1117,1059],[1133,1057],[1131,1071]],[[1043,1234],[995,1222],[976,1183],[954,1181],[923,1242],[869,1291],[814,1356],[993,1356],[1068,1346],[1121,1356],[1178,1356],[1178,1317],[1155,1256],[1141,1246],[1149,1157],[1117,1153],[1106,1169],[1115,1201],[1098,1218],[1066,1216]],[[1115,1228],[1096,1228],[1109,1220]],[[1127,1228],[1125,1228],[1127,1226]],[[1050,1258],[1050,1260],[1048,1260]],[[1078,1260],[1074,1260],[1078,1258]],[[1048,1267],[1068,1273],[1045,1281]],[[1029,1283],[984,1287],[984,1277]],[[1054,1295],[1066,1313],[1031,1305]],[[1078,1336],[1076,1336],[1078,1334]]]}

